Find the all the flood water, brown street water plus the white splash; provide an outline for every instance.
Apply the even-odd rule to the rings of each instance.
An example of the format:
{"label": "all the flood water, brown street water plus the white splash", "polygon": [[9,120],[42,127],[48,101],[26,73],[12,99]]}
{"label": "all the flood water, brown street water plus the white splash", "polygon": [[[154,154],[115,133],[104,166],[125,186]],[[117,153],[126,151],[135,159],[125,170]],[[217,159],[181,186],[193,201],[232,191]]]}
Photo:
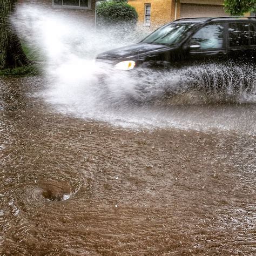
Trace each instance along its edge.
{"label": "all the flood water, brown street water plus the white splash", "polygon": [[142,32],[12,19],[44,64],[0,78],[1,255],[256,253],[253,66],[126,77],[93,58]]}

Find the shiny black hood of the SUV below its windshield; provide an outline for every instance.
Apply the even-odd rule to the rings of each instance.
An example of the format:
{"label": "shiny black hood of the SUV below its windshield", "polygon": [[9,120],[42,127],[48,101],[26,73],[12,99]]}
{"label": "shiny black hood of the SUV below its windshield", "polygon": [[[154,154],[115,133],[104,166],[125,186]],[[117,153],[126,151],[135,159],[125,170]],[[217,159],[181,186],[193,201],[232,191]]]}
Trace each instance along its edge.
{"label": "shiny black hood of the SUV below its windshield", "polygon": [[97,56],[97,59],[138,59],[148,53],[157,52],[159,50],[162,51],[165,48],[170,48],[170,46],[138,43],[100,53],[100,55]]}

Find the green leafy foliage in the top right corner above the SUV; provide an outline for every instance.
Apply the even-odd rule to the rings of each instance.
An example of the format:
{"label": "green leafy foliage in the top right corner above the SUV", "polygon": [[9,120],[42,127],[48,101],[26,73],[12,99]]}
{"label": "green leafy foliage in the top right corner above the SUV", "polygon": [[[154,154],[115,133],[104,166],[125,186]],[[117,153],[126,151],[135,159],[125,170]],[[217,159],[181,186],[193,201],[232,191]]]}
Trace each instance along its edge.
{"label": "green leafy foliage in the top right corner above the SUV", "polygon": [[225,11],[232,16],[242,16],[246,12],[255,12],[256,0],[225,0]]}

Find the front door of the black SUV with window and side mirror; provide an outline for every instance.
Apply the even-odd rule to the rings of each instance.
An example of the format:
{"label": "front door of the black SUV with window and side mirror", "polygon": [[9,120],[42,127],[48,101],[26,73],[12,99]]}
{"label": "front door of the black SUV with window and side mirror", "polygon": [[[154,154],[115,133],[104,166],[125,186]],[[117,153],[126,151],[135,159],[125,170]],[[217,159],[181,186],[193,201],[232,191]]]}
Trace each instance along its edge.
{"label": "front door of the black SUV with window and side mirror", "polygon": [[227,56],[226,24],[212,22],[201,27],[188,39],[186,62],[207,64],[225,61]]}

